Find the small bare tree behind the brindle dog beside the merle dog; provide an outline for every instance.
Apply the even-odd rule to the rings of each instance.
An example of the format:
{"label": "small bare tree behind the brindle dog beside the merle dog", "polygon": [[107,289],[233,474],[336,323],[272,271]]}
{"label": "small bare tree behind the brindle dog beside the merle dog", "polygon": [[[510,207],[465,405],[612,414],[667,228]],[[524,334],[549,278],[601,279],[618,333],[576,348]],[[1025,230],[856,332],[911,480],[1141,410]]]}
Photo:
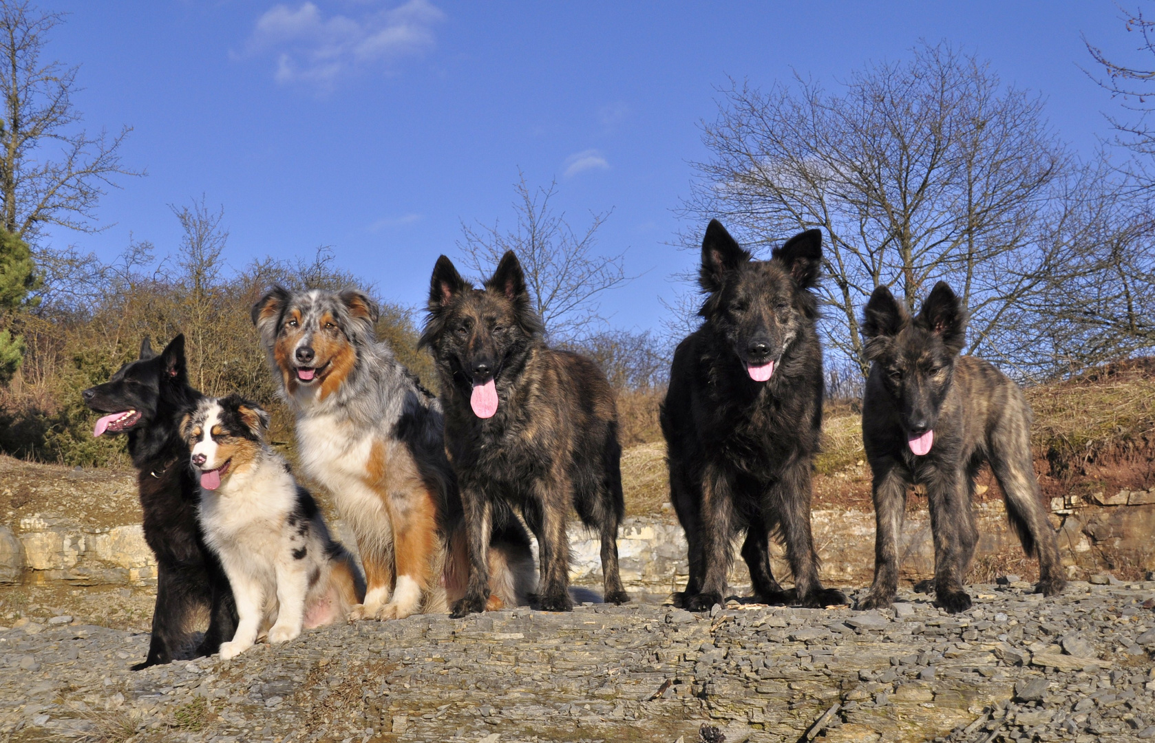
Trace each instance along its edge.
{"label": "small bare tree behind the brindle dog beside the merle dog", "polygon": [[586,231],[575,232],[565,213],[556,212],[550,203],[557,186],[552,181],[549,188],[532,190],[519,172],[513,204],[516,227],[505,232],[500,222],[476,228],[462,223],[457,249],[465,268],[478,277],[489,276],[506,250],[516,253],[534,308],[550,337],[573,340],[605,321],[598,302],[602,292],[631,277],[625,272],[625,253],[603,256],[594,250],[597,230],[610,212],[591,213]]}

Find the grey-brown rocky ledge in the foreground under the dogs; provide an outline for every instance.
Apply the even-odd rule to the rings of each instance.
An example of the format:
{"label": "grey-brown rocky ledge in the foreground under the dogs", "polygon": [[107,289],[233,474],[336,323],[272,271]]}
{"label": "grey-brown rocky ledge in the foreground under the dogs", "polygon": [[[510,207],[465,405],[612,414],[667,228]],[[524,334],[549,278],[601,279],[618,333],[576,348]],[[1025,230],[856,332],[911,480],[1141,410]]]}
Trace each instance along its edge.
{"label": "grey-brown rocky ledge in the foreground under the dogs", "polygon": [[[948,616],[730,601],[413,616],[143,671],[148,636],[0,631],[8,741],[1133,741],[1155,737],[1155,583],[1013,579]],[[702,727],[707,726],[707,727]],[[710,728],[714,728],[713,730]],[[721,737],[724,736],[724,737]]]}

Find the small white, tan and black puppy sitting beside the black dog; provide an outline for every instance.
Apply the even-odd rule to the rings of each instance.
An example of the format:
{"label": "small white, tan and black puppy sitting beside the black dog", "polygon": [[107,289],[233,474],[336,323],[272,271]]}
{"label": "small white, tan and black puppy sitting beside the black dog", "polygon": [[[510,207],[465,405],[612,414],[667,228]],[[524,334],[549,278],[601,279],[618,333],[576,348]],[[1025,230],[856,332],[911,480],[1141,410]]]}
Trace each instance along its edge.
{"label": "small white, tan and black puppy sitting beside the black dog", "polygon": [[264,438],[269,415],[230,395],[204,399],[181,426],[200,479],[204,541],[233,585],[237,633],[221,644],[233,658],[268,632],[284,643],[344,620],[365,598],[352,556],[329,536],[308,490]]}

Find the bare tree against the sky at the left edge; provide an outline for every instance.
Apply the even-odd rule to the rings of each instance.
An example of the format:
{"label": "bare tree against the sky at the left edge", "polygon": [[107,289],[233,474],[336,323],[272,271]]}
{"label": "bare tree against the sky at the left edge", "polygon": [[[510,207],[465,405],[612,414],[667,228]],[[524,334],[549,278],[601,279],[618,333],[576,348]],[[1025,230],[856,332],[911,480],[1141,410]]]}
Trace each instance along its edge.
{"label": "bare tree against the sky at the left edge", "polygon": [[[95,209],[117,175],[142,173],[120,162],[116,136],[76,130],[81,113],[72,97],[77,67],[44,62],[49,32],[64,18],[22,0],[0,0],[0,218],[35,247],[44,225],[95,232]],[[57,147],[55,156],[51,150]]]}

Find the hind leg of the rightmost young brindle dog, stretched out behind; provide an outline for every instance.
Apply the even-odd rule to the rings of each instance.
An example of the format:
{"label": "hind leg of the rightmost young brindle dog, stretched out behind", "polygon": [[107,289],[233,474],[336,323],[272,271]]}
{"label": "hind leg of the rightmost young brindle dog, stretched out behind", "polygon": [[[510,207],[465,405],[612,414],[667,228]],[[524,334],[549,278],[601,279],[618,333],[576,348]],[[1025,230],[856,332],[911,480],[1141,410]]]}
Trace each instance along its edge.
{"label": "hind leg of the rightmost young brindle dog, stretched out behind", "polygon": [[1029,413],[1022,414],[1024,406],[1022,403],[1018,410],[1012,407],[991,434],[991,470],[1003,488],[1007,518],[1019,534],[1023,551],[1038,557],[1035,590],[1043,595],[1055,595],[1063,592],[1067,581],[1063,576],[1055,528],[1040,498],[1030,455],[1030,418]]}

